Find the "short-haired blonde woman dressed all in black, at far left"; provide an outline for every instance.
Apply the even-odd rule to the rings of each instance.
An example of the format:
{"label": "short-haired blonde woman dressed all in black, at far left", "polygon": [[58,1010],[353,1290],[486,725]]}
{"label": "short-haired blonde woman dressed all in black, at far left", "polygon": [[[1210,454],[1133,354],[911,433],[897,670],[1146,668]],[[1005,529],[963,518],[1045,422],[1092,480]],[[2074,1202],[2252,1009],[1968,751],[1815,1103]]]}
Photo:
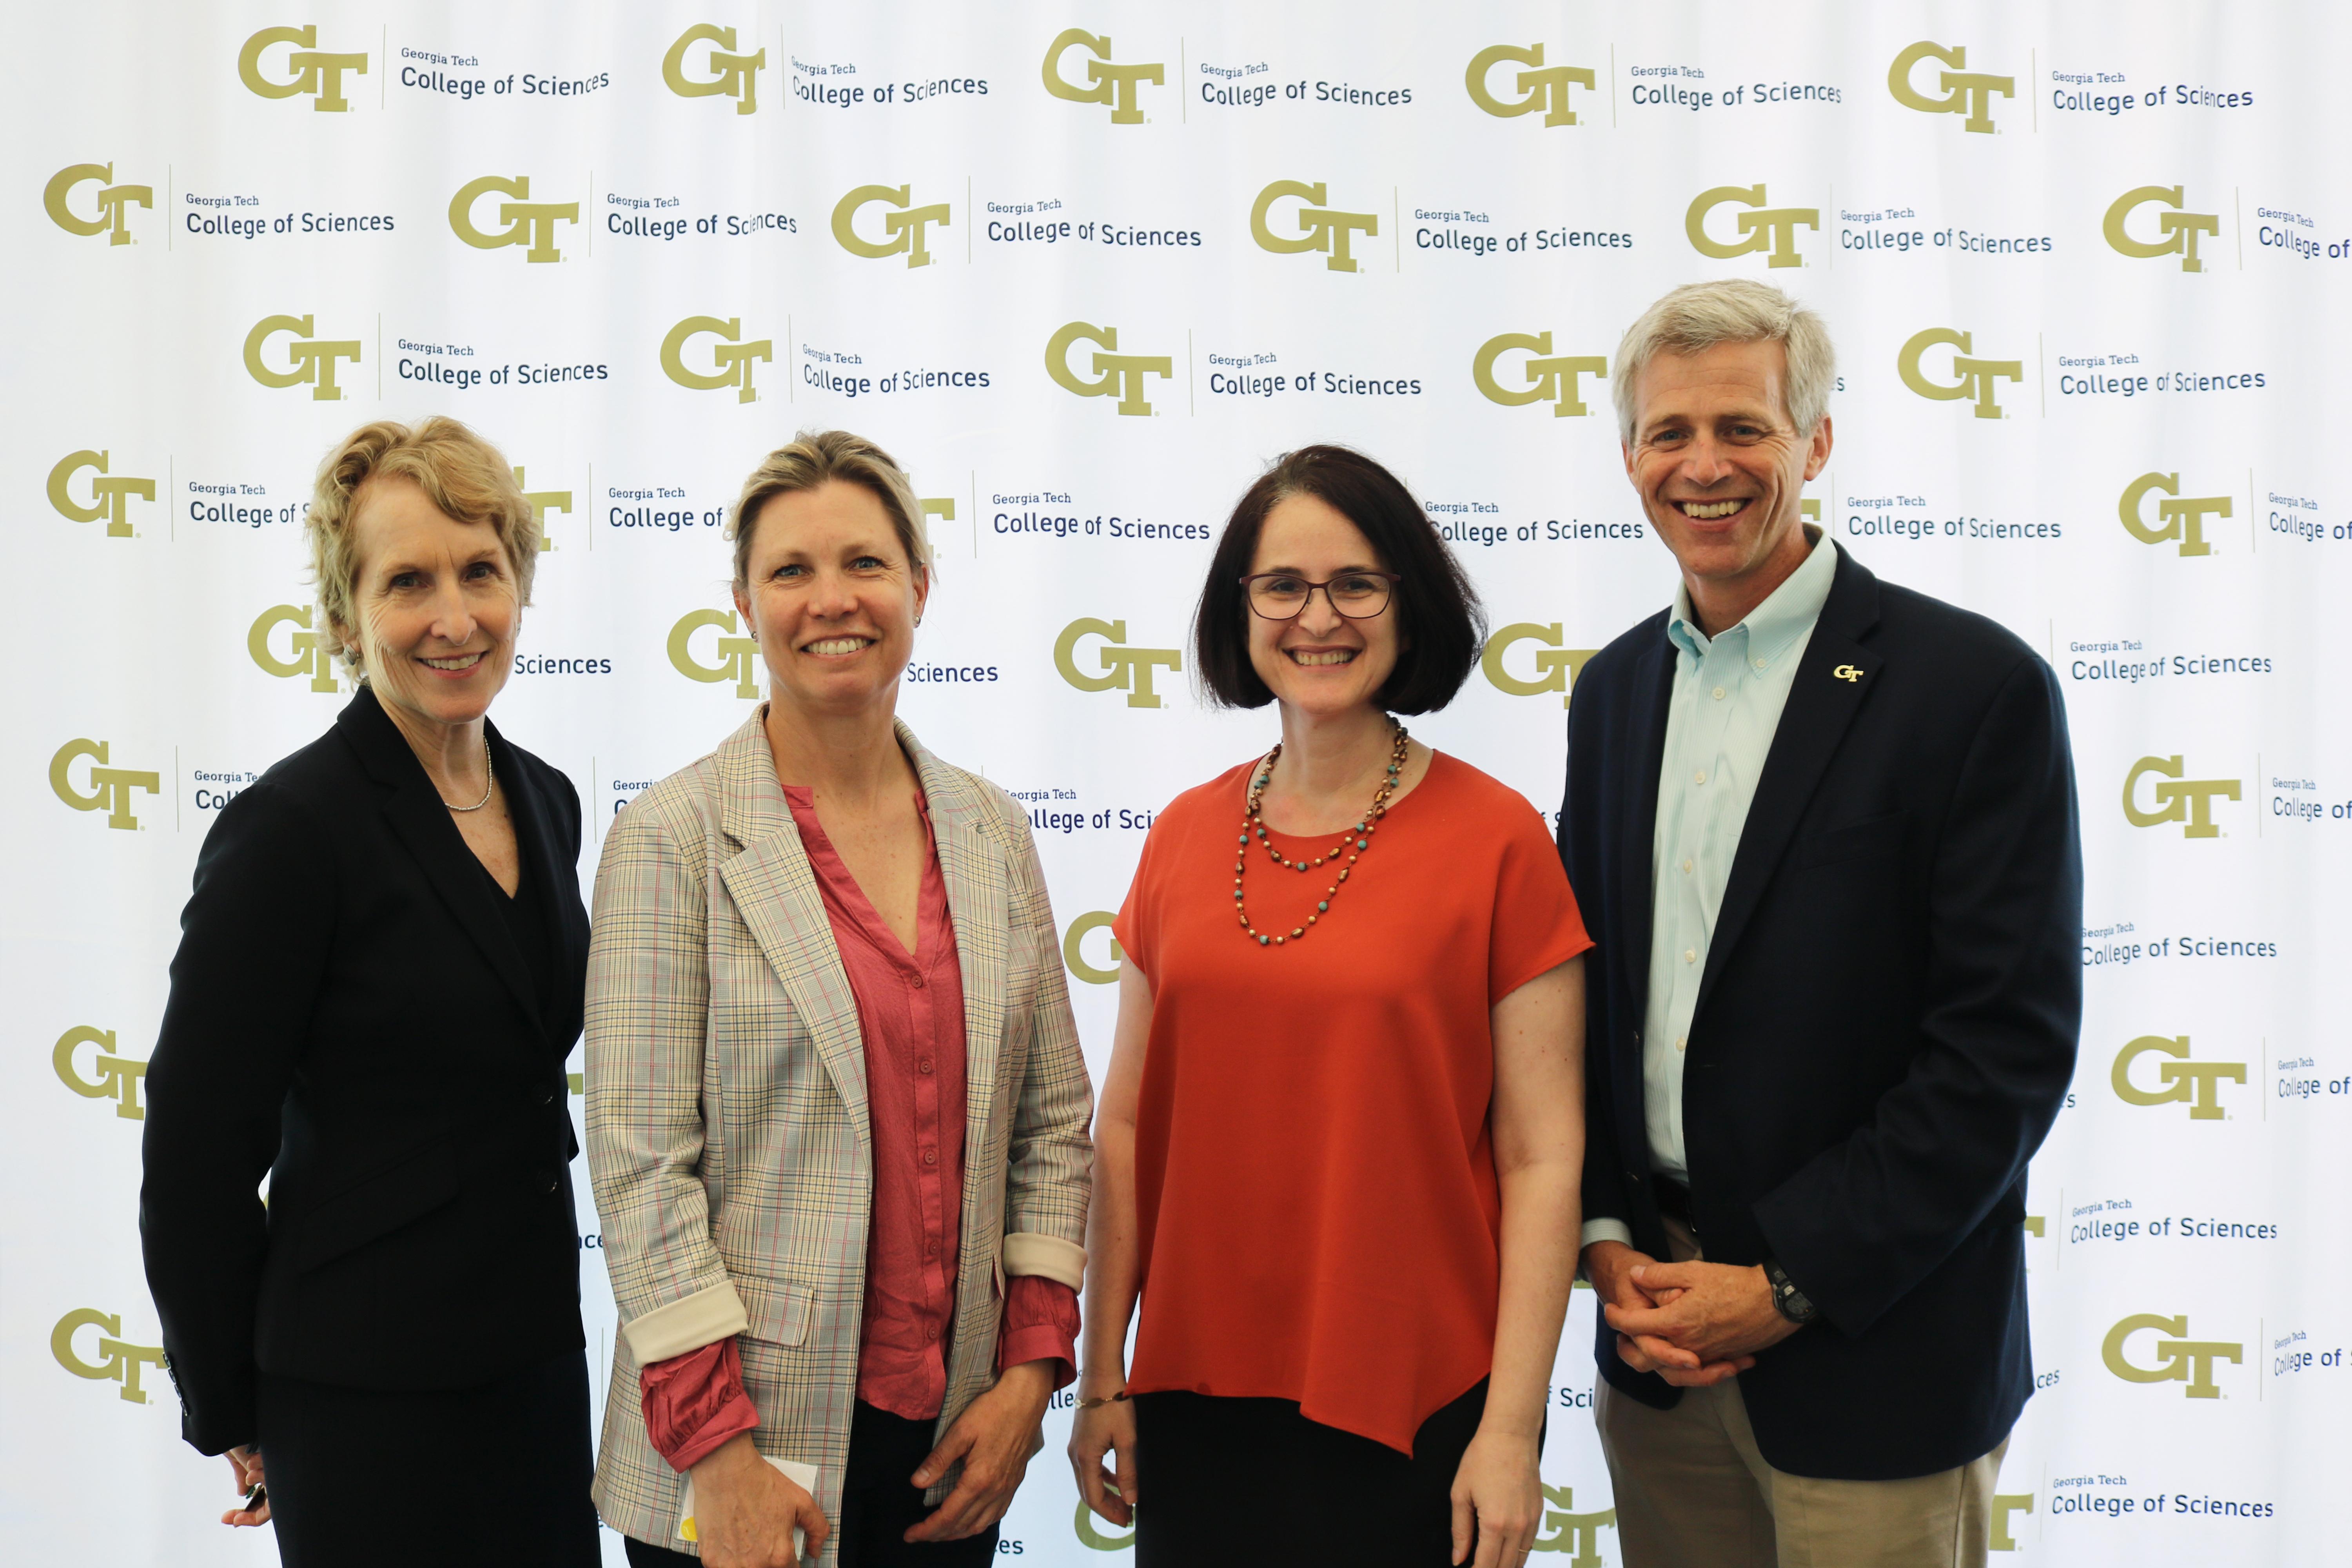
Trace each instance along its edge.
{"label": "short-haired blonde woman dressed all in black, at far left", "polygon": [[487,719],[539,529],[449,418],[358,430],[308,529],[360,693],[207,835],[148,1070],[181,1432],[287,1563],[586,1568],[581,816]]}

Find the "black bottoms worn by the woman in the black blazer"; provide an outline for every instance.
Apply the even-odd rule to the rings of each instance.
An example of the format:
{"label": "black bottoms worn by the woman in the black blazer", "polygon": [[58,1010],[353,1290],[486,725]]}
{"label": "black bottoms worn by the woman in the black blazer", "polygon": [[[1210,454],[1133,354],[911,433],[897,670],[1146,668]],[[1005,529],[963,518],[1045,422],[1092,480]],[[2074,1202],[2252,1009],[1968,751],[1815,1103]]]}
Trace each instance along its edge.
{"label": "black bottoms worn by the woman in the black blazer", "polygon": [[[595,1568],[588,1352],[470,1389],[263,1373],[261,1465],[287,1568]],[[454,1519],[437,1514],[447,1509]]]}

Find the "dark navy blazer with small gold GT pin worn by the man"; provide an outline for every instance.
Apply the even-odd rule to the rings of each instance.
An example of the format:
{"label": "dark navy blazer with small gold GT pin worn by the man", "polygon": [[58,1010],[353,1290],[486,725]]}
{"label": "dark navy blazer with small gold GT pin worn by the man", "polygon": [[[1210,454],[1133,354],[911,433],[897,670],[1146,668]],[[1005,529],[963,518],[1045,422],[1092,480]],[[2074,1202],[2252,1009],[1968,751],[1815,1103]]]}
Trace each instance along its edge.
{"label": "dark navy blazer with small gold GT pin worn by the man", "polygon": [[[1828,541],[1823,541],[1828,543]],[[1585,1215],[1665,1255],[1642,1119],[1668,611],[1592,656],[1559,856],[1602,973]],[[1712,1262],[1778,1258],[1820,1316],[1757,1356],[1757,1448],[1879,1481],[1990,1453],[2032,1392],[2025,1161],[2074,1072],[2082,846],[2051,668],[1839,552],[1731,860],[1684,1060]],[[1611,1387],[1679,1392],[1616,1356]]]}

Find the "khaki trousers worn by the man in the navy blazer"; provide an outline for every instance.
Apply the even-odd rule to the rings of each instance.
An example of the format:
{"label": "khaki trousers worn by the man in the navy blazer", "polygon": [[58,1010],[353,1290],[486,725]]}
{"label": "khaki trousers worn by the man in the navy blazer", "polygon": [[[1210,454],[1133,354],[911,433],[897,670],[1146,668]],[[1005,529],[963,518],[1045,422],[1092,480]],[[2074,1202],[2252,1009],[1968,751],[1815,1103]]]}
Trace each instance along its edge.
{"label": "khaki trousers worn by the man in the navy blazer", "polygon": [[[1675,1262],[1696,1237],[1668,1220]],[[2009,1439],[1980,1460],[1905,1481],[1820,1481],[1757,1450],[1740,1380],[1684,1389],[1672,1410],[1597,1380],[1625,1568],[1985,1568],[1992,1486]]]}

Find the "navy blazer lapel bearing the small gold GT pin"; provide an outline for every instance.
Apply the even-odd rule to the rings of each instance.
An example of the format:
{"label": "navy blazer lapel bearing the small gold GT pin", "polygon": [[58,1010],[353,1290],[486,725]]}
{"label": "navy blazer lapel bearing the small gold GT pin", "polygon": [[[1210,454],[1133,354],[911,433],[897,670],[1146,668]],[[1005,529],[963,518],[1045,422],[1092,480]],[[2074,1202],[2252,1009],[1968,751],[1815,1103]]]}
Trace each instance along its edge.
{"label": "navy blazer lapel bearing the small gold GT pin", "polygon": [[1708,969],[1698,978],[1693,1023],[1705,1011],[1726,957],[1738,947],[1748,919],[1764,898],[1764,886],[1780,865],[1788,842],[1797,835],[1797,823],[1804,818],[1820,776],[1830,769],[1830,757],[1846,738],[1846,726],[1877,689],[1877,675],[1886,661],[1856,642],[1877,621],[1879,578],[1839,550],[1830,597],[1820,607],[1813,637],[1804,644],[1804,658],[1790,679],[1788,705],[1780,710],[1780,726],[1764,755],[1764,771],[1757,776],[1757,792],[1748,804],[1748,823],[1740,827],[1740,846],[1731,856],[1724,903],[1715,914],[1715,933],[1708,938]]}

